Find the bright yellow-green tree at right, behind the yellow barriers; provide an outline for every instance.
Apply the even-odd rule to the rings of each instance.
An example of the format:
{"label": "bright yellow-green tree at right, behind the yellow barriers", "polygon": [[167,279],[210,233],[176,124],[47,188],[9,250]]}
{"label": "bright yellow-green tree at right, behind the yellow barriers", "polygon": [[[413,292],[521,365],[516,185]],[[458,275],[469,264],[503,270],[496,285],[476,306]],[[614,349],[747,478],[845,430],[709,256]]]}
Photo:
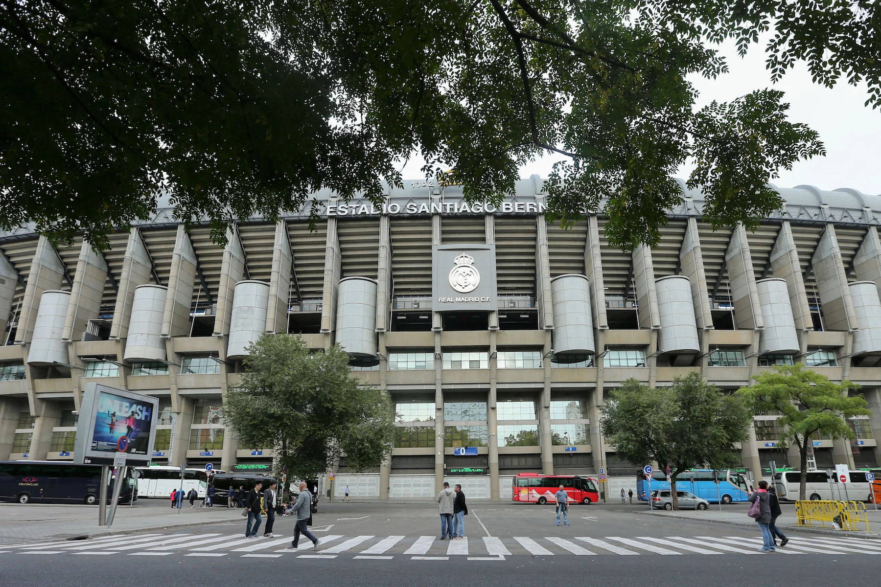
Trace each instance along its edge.
{"label": "bright yellow-green tree at right, behind the yellow barriers", "polygon": [[833,438],[850,438],[847,418],[870,415],[869,404],[862,395],[849,397],[851,390],[859,385],[850,381],[833,383],[825,375],[804,369],[802,363],[778,365],[775,371],[765,371],[753,376],[756,383],[741,387],[739,393],[753,413],[776,410],[781,413],[777,423],[785,428],[780,446],[796,443],[799,456],[801,482],[798,498],[804,499],[808,480],[808,448],[812,447],[813,435]]}

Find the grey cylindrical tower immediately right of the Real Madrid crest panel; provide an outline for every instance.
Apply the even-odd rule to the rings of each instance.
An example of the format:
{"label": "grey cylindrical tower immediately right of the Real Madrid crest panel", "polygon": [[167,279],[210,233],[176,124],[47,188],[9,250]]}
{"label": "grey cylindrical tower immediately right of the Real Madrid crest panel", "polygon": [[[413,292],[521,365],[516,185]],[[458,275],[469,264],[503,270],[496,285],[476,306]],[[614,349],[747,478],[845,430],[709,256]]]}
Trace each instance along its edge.
{"label": "grey cylindrical tower immediately right of the Real Madrid crest panel", "polygon": [[593,355],[594,320],[590,313],[590,282],[568,273],[551,280],[553,361],[577,363]]}

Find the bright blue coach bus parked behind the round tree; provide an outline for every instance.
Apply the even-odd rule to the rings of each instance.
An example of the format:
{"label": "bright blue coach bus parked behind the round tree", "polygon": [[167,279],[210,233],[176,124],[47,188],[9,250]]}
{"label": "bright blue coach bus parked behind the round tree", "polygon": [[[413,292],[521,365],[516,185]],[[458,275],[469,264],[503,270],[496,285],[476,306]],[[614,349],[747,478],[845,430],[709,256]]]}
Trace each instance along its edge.
{"label": "bright blue coach bus parked behind the round tree", "polygon": [[[716,481],[719,481],[718,485]],[[669,489],[670,481],[661,471],[652,473],[649,483],[645,473],[636,473],[636,495],[640,502],[648,502],[648,491],[655,489]],[[750,497],[750,488],[741,473],[730,469],[713,471],[712,469],[694,469],[686,471],[678,476],[676,488],[679,491],[691,491],[701,499],[709,503],[745,502]]]}

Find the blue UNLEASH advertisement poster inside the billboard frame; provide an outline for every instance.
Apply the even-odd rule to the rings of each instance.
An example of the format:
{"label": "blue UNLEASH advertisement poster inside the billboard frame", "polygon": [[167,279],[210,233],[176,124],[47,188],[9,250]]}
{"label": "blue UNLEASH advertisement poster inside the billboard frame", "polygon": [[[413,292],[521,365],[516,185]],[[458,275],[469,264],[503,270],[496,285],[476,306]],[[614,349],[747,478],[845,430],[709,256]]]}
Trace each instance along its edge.
{"label": "blue UNLEASH advertisement poster inside the billboard frame", "polygon": [[153,416],[152,404],[100,392],[92,450],[147,455]]}

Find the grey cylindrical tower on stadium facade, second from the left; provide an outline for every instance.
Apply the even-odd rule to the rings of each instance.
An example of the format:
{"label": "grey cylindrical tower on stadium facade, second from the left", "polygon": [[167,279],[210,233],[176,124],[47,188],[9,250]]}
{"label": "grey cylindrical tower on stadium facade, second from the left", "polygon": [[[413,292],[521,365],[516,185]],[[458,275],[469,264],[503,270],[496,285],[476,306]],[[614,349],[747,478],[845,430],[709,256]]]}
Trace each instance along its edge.
{"label": "grey cylindrical tower on stadium facade, second from the left", "polygon": [[125,342],[125,360],[130,362],[165,361],[166,346],[160,334],[165,314],[168,288],[164,285],[138,285],[131,303],[129,337]]}

